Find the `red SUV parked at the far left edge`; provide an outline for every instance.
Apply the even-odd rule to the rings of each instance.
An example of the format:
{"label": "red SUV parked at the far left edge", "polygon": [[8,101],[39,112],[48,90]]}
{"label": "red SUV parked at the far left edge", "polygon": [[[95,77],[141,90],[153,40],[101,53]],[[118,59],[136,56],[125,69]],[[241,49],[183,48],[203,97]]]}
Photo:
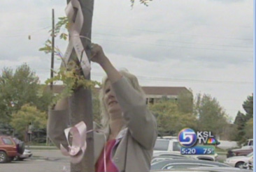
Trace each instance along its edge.
{"label": "red SUV parked at the far left edge", "polygon": [[18,155],[15,141],[10,136],[0,136],[0,163],[11,162]]}

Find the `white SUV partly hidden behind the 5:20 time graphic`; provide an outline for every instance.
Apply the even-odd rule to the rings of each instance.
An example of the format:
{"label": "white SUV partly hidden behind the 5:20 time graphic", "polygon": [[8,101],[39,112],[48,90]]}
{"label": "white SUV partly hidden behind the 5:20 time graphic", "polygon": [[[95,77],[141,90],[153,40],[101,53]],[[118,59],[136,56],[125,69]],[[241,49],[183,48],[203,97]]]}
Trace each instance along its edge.
{"label": "white SUV partly hidden behind the 5:20 time graphic", "polygon": [[[177,139],[157,139],[154,147],[154,155],[157,153],[176,153],[180,154],[180,143]],[[193,157],[195,159],[215,161],[218,156],[217,153],[215,155],[186,155],[187,157]]]}

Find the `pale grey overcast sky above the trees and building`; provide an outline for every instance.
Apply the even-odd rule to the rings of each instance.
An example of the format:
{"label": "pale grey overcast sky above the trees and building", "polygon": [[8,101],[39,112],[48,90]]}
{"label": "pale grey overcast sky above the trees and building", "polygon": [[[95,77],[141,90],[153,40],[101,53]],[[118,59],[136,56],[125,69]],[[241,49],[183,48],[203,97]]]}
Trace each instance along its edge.
{"label": "pale grey overcast sky above the trees and building", "polygon": [[[185,86],[194,96],[210,94],[232,120],[244,112],[243,101],[253,93],[253,0],[130,5],[94,1],[92,41],[118,69],[137,75],[141,86]],[[57,20],[65,7],[59,0],[1,0],[0,69],[28,63],[41,83],[50,77],[50,54],[38,49],[49,38],[52,8]],[[56,45],[65,52],[67,42]],[[59,63],[55,60],[55,69]],[[92,64],[92,79],[101,81],[103,75]]]}

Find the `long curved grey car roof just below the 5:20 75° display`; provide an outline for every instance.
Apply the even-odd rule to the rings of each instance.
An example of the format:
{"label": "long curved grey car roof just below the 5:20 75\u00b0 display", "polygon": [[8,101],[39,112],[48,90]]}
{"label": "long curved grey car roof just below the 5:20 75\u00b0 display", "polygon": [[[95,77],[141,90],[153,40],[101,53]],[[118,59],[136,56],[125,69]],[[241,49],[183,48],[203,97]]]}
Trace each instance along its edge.
{"label": "long curved grey car roof just below the 5:20 75\u00b0 display", "polygon": [[197,166],[222,166],[222,167],[230,167],[227,164],[223,164],[220,162],[210,162],[199,159],[171,159],[164,160],[161,162],[155,162],[151,164],[151,170],[162,169],[190,169],[192,167]]}

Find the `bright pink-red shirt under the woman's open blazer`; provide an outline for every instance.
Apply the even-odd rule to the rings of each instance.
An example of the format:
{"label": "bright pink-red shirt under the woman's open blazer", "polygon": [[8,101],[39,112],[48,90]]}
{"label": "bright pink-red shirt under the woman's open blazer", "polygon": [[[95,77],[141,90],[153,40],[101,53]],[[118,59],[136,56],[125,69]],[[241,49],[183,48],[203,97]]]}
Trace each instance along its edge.
{"label": "bright pink-red shirt under the woman's open blazer", "polygon": [[[118,172],[118,168],[112,162],[111,152],[113,147],[115,146],[115,139],[111,139],[106,143],[106,172]],[[95,164],[96,172],[105,172],[104,169],[104,149],[101,151],[101,155],[97,163]]]}

